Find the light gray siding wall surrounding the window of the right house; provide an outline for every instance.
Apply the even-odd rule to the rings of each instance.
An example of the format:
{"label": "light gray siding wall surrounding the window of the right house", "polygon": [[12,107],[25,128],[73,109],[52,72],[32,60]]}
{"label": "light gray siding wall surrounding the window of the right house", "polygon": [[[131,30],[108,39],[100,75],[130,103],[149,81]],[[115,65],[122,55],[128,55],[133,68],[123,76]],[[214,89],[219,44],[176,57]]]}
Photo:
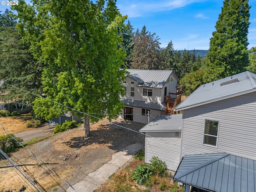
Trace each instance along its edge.
{"label": "light gray siding wall surrounding the window of the right house", "polygon": [[[256,92],[183,111],[182,156],[228,152],[256,158]],[[219,121],[218,146],[206,146],[205,120]]]}

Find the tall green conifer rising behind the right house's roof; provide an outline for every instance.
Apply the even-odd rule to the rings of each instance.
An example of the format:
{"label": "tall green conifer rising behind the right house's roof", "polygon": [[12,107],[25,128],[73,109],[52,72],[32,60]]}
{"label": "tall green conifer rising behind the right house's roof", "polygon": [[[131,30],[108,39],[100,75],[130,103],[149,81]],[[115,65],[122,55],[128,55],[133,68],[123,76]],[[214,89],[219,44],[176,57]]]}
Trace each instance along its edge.
{"label": "tall green conifer rising behind the right house's roof", "polygon": [[224,0],[210,38],[205,82],[244,72],[248,65],[248,0]]}

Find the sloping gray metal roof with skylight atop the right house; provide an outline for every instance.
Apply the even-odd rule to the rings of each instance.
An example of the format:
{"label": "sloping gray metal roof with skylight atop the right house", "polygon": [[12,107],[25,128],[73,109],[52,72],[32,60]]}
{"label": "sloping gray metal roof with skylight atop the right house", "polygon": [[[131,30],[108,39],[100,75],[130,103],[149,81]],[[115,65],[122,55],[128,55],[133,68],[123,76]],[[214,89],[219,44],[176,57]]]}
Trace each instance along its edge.
{"label": "sloping gray metal roof with skylight atop the right house", "polygon": [[256,74],[246,71],[201,85],[174,110],[193,108],[254,91],[256,91]]}

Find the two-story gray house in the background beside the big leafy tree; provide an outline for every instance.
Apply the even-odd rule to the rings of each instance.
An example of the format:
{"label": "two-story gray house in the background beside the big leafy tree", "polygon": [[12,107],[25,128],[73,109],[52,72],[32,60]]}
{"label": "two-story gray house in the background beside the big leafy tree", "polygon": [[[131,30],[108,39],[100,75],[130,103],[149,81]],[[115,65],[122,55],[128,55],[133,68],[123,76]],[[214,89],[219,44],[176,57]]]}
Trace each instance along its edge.
{"label": "two-story gray house in the background beside the big leafy tree", "polygon": [[121,82],[125,90],[125,95],[121,97],[125,105],[122,118],[147,123],[148,112],[150,121],[158,115],[166,114],[169,98],[176,99],[179,80],[176,74],[172,70],[126,71],[129,74]]}

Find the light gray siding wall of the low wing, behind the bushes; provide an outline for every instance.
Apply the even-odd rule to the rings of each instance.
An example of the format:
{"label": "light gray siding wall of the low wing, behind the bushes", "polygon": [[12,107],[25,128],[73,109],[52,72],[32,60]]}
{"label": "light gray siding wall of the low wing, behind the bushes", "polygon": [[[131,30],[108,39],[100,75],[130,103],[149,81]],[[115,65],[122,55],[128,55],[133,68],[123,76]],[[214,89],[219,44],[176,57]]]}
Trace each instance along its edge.
{"label": "light gray siding wall of the low wing, behind the bushes", "polygon": [[153,156],[166,163],[169,170],[176,171],[180,163],[181,138],[175,132],[146,132],[145,162],[150,163]]}

